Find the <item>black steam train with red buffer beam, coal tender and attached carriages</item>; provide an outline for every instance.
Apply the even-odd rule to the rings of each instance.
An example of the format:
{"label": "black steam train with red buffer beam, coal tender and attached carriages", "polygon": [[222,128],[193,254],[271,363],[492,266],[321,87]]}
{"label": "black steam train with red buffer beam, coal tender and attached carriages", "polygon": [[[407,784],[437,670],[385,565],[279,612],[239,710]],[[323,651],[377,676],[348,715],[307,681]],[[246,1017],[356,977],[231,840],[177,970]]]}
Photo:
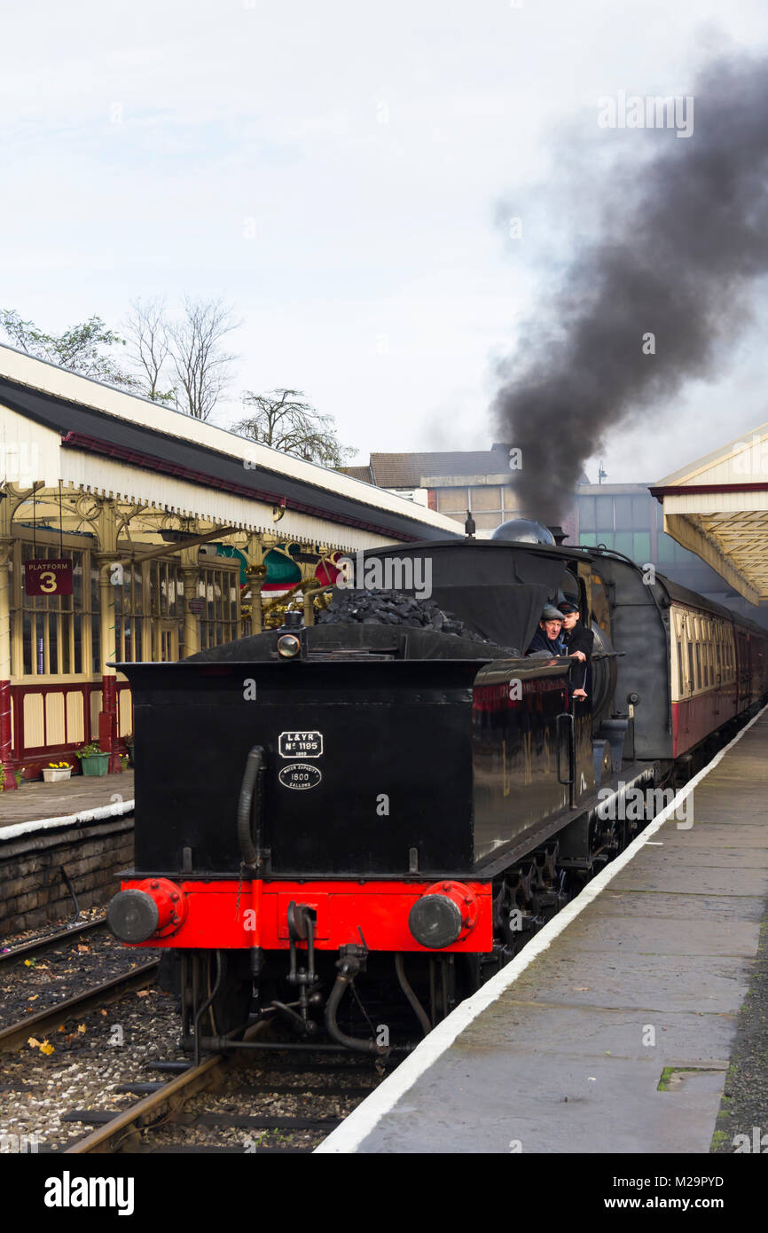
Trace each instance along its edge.
{"label": "black steam train with red buffer beam, coal tender and attached carriages", "polygon": [[[403,1038],[429,1031],[641,825],[600,804],[695,769],[768,689],[759,626],[535,523],[371,562],[398,586],[362,620],[339,591],[337,620],[118,666],[136,868],[108,922],[173,954],[196,1055],[254,1021],[386,1052],[393,990]],[[587,700],[573,661],[523,653],[563,598]]]}

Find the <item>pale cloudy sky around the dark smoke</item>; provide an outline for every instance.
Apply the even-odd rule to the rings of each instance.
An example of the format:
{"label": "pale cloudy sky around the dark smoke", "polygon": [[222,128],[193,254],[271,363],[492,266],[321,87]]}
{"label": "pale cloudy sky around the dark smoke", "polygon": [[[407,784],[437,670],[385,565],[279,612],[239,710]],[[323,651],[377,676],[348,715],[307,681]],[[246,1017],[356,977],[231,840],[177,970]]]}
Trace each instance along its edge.
{"label": "pale cloudy sky around the dark smoke", "polygon": [[[221,297],[243,324],[217,422],[302,390],[367,461],[491,445],[498,365],[637,136],[599,100],[690,94],[710,57],[768,48],[768,6],[38,0],[4,46],[0,307],[118,329],[139,296]],[[563,132],[589,137],[576,195]],[[652,482],[767,420],[766,324],[758,287],[715,379],[613,432],[589,477]]]}

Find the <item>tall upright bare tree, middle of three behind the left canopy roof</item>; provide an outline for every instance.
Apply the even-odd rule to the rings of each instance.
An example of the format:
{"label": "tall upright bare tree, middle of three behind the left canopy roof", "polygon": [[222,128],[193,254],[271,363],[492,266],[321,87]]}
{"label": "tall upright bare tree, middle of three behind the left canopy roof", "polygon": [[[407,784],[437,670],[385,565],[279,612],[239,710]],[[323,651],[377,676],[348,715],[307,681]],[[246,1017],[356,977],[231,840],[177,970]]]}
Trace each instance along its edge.
{"label": "tall upright bare tree, middle of three behind the left canopy roof", "polygon": [[221,300],[185,297],[181,319],[168,326],[168,348],[176,375],[175,397],[180,411],[208,419],[229,383],[234,355],[222,349],[222,339],[242,322]]}

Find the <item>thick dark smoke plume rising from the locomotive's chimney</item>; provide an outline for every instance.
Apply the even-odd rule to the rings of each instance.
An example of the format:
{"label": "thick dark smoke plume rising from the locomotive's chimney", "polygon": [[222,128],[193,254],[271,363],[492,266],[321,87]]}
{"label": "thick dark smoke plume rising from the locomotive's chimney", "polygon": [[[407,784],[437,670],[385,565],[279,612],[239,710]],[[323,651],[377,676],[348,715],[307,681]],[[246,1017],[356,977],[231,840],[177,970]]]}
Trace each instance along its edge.
{"label": "thick dark smoke plume rising from the locomotive's chimney", "polygon": [[[692,136],[614,134],[599,240],[500,369],[496,428],[523,451],[520,507],[542,522],[571,507],[609,429],[646,418],[663,430],[653,412],[687,380],[717,375],[768,268],[768,62],[717,60],[692,95]],[[646,333],[656,354],[643,354]]]}

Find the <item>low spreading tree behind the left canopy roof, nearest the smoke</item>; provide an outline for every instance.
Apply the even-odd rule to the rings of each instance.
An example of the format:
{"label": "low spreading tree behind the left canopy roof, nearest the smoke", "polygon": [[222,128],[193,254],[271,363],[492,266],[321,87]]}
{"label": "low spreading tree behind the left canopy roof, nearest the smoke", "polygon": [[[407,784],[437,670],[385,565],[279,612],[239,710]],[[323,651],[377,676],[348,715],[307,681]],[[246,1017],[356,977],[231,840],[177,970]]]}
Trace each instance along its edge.
{"label": "low spreading tree behind the left canopy roof, nearest the smoke", "polygon": [[243,395],[244,419],[234,425],[235,433],[251,441],[271,445],[284,454],[295,454],[308,462],[340,467],[354,455],[341,445],[333,416],[321,416],[301,390],[272,390],[271,395]]}

